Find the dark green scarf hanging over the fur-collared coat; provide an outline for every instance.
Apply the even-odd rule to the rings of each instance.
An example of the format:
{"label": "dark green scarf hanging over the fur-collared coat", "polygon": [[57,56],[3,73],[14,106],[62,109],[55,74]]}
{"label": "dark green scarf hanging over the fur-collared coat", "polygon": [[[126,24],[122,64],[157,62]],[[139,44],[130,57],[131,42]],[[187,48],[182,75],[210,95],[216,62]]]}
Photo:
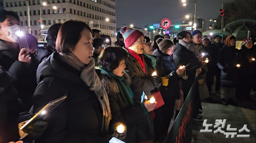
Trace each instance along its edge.
{"label": "dark green scarf hanging over the fur-collared coat", "polygon": [[116,76],[113,73],[105,71],[102,67],[100,67],[101,73],[110,75],[114,78],[116,84],[118,85],[119,91],[122,94],[124,101],[127,106],[134,106],[134,102],[132,99],[135,99],[135,96],[130,88],[130,86],[127,84],[127,82],[124,79],[124,76]]}

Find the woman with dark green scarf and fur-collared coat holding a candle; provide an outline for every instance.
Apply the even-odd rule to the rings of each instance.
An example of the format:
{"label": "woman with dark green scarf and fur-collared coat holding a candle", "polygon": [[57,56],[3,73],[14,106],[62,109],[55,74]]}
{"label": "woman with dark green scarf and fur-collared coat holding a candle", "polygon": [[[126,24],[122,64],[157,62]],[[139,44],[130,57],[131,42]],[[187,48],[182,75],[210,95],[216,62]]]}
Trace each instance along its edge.
{"label": "woman with dark green scarf and fur-collared coat holding a candle", "polygon": [[[139,142],[137,128],[139,123],[145,123],[145,115],[155,108],[155,103],[137,103],[130,88],[131,78],[124,71],[127,52],[119,47],[109,46],[104,49],[99,58],[102,73],[102,84],[109,98],[112,119],[109,127],[121,122],[127,126],[126,143]],[[147,132],[145,130],[144,132]]]}

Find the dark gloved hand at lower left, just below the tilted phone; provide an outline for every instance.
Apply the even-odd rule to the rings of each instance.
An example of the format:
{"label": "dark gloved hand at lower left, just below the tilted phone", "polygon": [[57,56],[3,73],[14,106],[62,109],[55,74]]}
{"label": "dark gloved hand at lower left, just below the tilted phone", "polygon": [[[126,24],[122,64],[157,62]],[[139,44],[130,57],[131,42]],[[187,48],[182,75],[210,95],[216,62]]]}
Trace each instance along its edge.
{"label": "dark gloved hand at lower left, just below the tilted phone", "polygon": [[[35,114],[31,115],[31,118]],[[48,126],[47,115],[39,116],[37,116],[37,118],[35,118],[30,124],[23,128],[23,132],[29,134],[31,139],[37,139],[40,137]]]}

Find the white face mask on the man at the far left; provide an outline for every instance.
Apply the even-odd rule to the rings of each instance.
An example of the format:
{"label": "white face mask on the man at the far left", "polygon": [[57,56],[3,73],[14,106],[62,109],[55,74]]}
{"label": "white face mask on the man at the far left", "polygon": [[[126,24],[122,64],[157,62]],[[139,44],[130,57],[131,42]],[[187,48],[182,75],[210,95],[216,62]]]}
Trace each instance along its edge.
{"label": "white face mask on the man at the far left", "polygon": [[12,40],[13,42],[18,43],[17,33],[21,33],[22,28],[19,25],[12,25],[6,28],[0,28],[2,36]]}

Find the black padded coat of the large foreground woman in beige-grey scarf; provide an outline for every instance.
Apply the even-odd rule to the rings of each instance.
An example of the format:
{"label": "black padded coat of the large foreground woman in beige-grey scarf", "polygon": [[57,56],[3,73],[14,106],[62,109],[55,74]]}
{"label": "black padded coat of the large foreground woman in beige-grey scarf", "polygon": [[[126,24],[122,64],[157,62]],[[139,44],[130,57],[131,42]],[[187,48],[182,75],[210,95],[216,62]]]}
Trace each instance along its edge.
{"label": "black padded coat of the large foreground woman in beige-grey scarf", "polygon": [[33,113],[66,93],[67,98],[49,113],[48,127],[36,143],[109,142],[110,138],[101,130],[103,113],[100,103],[80,74],[61,61],[57,52],[39,65]]}

